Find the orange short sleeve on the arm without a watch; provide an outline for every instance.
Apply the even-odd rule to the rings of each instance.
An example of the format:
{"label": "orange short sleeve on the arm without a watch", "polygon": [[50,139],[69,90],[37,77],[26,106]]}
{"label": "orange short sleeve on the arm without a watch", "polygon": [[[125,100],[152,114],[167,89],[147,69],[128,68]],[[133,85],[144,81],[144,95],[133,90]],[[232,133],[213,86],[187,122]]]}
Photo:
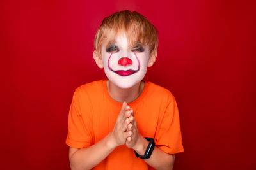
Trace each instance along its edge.
{"label": "orange short sleeve on the arm without a watch", "polygon": [[77,90],[74,92],[68,115],[66,139],[66,144],[71,148],[86,148],[92,145],[92,121],[90,120],[90,110],[86,110],[90,107],[82,107],[86,103],[85,99],[81,92],[77,92]]}

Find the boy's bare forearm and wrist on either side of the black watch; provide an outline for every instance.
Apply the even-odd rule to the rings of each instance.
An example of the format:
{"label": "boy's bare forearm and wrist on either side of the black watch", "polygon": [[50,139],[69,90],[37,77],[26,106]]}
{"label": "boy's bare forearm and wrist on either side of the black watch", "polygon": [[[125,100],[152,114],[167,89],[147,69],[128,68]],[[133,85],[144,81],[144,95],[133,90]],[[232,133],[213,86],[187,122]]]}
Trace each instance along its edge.
{"label": "boy's bare forearm and wrist on either side of the black watch", "polygon": [[[138,148],[135,149],[135,151],[139,155],[144,155],[149,142],[142,136],[140,136],[140,140],[138,142],[140,142],[140,144],[138,145]],[[173,169],[174,160],[175,155],[165,153],[163,152],[163,150],[155,146],[152,155],[150,156],[149,159],[145,159],[145,162],[147,162],[148,165],[154,167],[154,169],[170,170]]]}

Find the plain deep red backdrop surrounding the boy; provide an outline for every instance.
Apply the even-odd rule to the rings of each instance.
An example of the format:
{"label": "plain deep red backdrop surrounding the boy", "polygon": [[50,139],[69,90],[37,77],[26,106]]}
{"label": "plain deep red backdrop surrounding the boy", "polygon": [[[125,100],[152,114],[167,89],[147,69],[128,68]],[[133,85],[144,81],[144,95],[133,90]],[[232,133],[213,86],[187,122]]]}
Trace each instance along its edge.
{"label": "plain deep red backdrop surrounding the boy", "polygon": [[0,1],[0,169],[69,169],[74,89],[104,78],[92,57],[102,18],[136,10],[159,29],[147,80],[177,98],[175,169],[256,169],[253,1]]}

